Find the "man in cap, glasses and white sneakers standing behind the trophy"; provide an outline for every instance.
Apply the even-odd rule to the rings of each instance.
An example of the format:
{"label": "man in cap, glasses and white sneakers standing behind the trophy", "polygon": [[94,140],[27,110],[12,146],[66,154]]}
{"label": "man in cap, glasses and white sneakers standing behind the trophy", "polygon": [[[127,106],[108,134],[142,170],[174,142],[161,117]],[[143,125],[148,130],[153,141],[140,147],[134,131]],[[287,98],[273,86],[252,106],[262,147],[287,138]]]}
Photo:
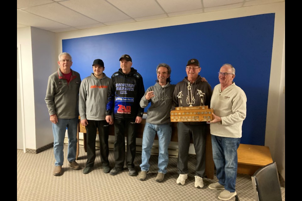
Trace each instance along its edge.
{"label": "man in cap, glasses and white sneakers standing behind the trophy", "polygon": [[[173,105],[171,110],[178,107],[177,95],[182,92],[182,106],[200,106],[199,91],[204,93],[204,105],[210,106],[212,95],[211,86],[198,73],[201,68],[197,59],[190,59],[187,62],[185,77],[181,82],[177,83],[173,93]],[[189,91],[190,88],[190,91]],[[192,93],[191,93],[192,92]],[[192,96],[191,96],[192,94]],[[204,187],[202,177],[205,176],[205,141],[206,141],[206,122],[178,122],[178,160],[177,170],[179,177],[176,183],[184,185],[188,178],[188,155],[191,141],[191,135],[196,153],[195,166],[195,183],[196,188]]]}

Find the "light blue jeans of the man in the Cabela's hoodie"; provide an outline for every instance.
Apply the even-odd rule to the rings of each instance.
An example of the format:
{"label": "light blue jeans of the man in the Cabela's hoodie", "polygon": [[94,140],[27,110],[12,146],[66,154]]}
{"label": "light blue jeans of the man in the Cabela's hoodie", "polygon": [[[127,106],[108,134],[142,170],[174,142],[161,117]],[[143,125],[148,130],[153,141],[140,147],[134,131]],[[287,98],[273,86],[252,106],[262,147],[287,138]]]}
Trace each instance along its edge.
{"label": "light blue jeans of the man in the Cabela's hoodie", "polygon": [[158,172],[167,173],[167,166],[169,162],[168,146],[171,141],[172,128],[171,124],[151,124],[146,122],[143,133],[142,145],[142,164],[140,165],[142,171],[149,171],[149,159],[151,155],[151,148],[154,142],[155,134],[158,136],[159,154],[158,154]]}

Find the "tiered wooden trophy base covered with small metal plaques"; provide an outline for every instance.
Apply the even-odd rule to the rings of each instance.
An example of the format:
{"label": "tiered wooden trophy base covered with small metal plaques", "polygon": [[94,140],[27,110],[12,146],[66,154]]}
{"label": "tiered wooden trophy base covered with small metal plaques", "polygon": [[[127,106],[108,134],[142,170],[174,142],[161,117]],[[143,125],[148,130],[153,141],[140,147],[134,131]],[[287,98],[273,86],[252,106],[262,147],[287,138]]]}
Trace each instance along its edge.
{"label": "tiered wooden trophy base covered with small metal plaques", "polygon": [[176,107],[170,111],[171,122],[210,122],[213,109],[208,106]]}

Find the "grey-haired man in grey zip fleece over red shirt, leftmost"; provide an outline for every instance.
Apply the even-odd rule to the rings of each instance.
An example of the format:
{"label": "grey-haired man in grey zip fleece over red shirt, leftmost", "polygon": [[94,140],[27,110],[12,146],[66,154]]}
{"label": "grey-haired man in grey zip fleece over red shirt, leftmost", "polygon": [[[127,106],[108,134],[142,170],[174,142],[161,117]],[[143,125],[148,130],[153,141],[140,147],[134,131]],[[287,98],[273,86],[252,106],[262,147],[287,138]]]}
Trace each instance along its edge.
{"label": "grey-haired man in grey zip fleece over red shirt, leftmost", "polygon": [[74,170],[81,167],[76,162],[77,125],[79,117],[80,74],[71,70],[69,53],[59,54],[59,69],[48,78],[45,102],[53,126],[53,149],[55,157],[54,176],[62,174],[64,161],[64,138],[67,127],[69,166]]}

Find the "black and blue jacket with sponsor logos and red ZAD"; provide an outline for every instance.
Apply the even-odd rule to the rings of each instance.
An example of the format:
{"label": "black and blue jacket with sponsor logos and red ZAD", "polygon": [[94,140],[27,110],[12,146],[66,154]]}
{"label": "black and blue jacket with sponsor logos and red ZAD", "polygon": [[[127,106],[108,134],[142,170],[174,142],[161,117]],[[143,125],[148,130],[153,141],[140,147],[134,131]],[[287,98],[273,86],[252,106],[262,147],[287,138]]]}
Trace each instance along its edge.
{"label": "black and blue jacket with sponsor logos and red ZAD", "polygon": [[133,119],[143,117],[144,109],[139,106],[139,101],[145,94],[142,76],[137,70],[131,68],[130,73],[123,73],[120,68],[111,76],[112,85],[108,90],[106,116],[113,112],[114,118]]}

